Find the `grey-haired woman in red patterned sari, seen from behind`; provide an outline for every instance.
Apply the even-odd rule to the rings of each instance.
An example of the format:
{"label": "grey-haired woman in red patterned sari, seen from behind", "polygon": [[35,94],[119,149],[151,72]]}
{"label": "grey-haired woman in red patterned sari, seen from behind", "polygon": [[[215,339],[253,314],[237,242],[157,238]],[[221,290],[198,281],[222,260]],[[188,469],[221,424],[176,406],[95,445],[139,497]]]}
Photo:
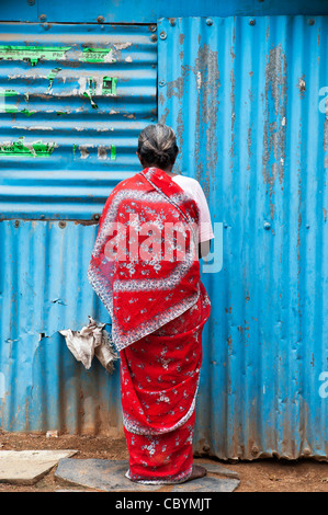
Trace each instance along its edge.
{"label": "grey-haired woman in red patterned sari, seen from behind", "polygon": [[211,309],[200,278],[200,206],[173,180],[170,127],[146,127],[137,154],[143,171],[122,181],[104,206],[88,277],[120,351],[126,477],[179,483],[206,473],[192,454]]}

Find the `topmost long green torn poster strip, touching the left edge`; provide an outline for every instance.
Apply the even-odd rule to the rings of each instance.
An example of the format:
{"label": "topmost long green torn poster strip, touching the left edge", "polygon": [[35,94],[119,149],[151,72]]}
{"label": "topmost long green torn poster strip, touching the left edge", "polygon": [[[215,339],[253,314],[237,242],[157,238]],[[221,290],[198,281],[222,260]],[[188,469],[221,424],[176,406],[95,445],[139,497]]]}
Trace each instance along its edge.
{"label": "topmost long green torn poster strip, touching the left edge", "polygon": [[70,46],[13,46],[0,45],[0,60],[24,60],[35,66],[39,59],[65,59]]}

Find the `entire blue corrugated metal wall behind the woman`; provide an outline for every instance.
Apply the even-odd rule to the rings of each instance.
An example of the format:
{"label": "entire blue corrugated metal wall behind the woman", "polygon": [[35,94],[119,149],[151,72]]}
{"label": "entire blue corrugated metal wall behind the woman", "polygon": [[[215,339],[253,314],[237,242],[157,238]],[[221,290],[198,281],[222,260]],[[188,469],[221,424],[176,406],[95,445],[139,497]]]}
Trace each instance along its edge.
{"label": "entire blue corrugated metal wall behind the woman", "polygon": [[[35,5],[35,16],[43,7],[42,2]],[[279,11],[282,3],[275,7]],[[72,13],[70,21],[79,13]],[[215,14],[208,8],[206,15],[211,13]],[[54,20],[60,21],[59,11],[53,12]],[[75,46],[77,53],[82,52],[81,43],[104,48],[106,37],[110,42],[117,32],[101,24],[70,25],[64,37],[64,27],[56,23],[10,26],[8,37],[15,44],[20,39],[14,34],[20,31],[25,34],[24,45],[26,38],[27,45],[33,44],[33,31],[43,46],[56,45],[54,34],[59,34],[61,44]],[[31,91],[29,104],[35,102],[41,110],[39,122],[46,119],[48,127],[55,124],[48,134],[55,134],[64,149],[71,149],[60,153],[60,147],[55,148],[60,153],[59,169],[52,161],[54,152],[49,158],[0,160],[5,218],[0,221],[0,419],[4,430],[122,432],[118,364],[113,376],[95,362],[84,370],[57,331],[80,329],[88,314],[109,321],[86,281],[97,226],[73,220],[91,220],[113,185],[137,170],[136,136],[156,118],[152,28],[118,28],[116,43],[128,43],[131,31],[136,31],[142,47],[145,44],[142,55],[135,56],[135,59],[125,62],[124,57],[129,73],[122,75],[121,88],[134,94],[125,100],[97,99],[100,111],[106,106],[102,113],[84,98],[86,113],[79,118],[79,112],[71,112],[66,123],[61,111],[65,106],[77,111],[76,101],[81,99],[70,96],[68,103],[60,94],[68,91],[60,79],[63,71],[52,84],[47,78],[52,70],[64,68],[64,60],[34,67],[29,60],[2,61],[7,71],[0,88],[16,91],[15,102],[12,96],[5,105],[0,100],[7,127],[1,140],[8,141],[8,134],[36,130],[31,128],[34,114],[23,112]],[[158,24],[160,118],[177,129],[180,171],[200,180],[213,221],[224,224],[223,270],[203,274],[212,317],[204,331],[195,433],[195,450],[210,449],[220,458],[328,456],[328,397],[319,394],[320,374],[328,369],[328,124],[325,108],[319,108],[327,94],[320,96],[320,88],[328,85],[327,28],[325,18],[308,16],[177,19]],[[125,52],[122,48],[121,55]],[[75,82],[76,65],[67,67]],[[106,73],[115,66],[117,73],[124,71],[123,62],[117,62],[106,66]],[[82,75],[92,71],[92,77],[100,68],[102,64],[80,66]],[[25,80],[24,73],[31,70],[34,76]],[[142,70],[149,79],[147,93],[135,99],[143,84]],[[48,88],[56,96],[58,118],[43,112],[45,102],[54,103]],[[114,108],[133,104],[123,108],[121,125],[111,131],[111,141],[117,137],[116,160],[103,161],[98,151],[97,157],[89,152],[82,159],[79,151],[75,161],[73,144],[77,140],[79,147],[84,141],[83,130],[95,146],[104,145],[95,127],[106,126],[103,121],[111,102]],[[12,105],[14,112],[5,110]],[[52,193],[55,203],[47,202]],[[45,220],[22,219],[43,216]],[[47,218],[66,219],[66,225]]]}

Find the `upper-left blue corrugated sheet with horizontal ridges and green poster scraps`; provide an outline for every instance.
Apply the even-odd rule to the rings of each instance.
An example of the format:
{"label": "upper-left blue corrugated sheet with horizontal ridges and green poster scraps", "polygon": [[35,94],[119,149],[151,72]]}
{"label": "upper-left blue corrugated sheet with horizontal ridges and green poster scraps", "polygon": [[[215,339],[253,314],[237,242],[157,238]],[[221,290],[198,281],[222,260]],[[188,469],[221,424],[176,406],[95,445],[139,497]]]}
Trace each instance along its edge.
{"label": "upper-left blue corrugated sheet with horizontal ridges and green poster scraps", "polygon": [[150,28],[1,24],[2,219],[91,219],[139,169],[138,134],[157,119]]}

